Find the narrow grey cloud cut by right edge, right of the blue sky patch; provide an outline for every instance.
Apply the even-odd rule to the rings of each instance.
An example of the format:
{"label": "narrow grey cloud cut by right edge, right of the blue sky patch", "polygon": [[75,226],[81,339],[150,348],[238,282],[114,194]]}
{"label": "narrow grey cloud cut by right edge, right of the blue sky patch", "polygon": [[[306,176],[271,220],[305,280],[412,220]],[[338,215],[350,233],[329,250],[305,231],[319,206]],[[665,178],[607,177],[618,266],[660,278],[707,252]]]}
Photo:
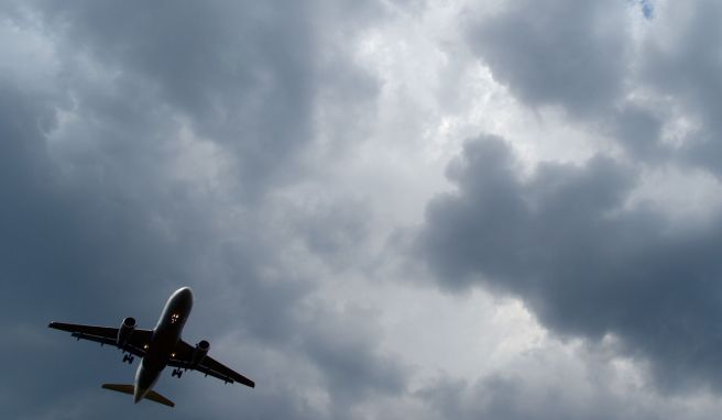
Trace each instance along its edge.
{"label": "narrow grey cloud cut by right edge, right of the blue sky patch", "polygon": [[[679,16],[679,18],[677,18]],[[663,16],[659,16],[663,18]],[[668,32],[654,32],[643,45],[641,74],[648,88],[672,101],[699,126],[676,151],[679,159],[703,165],[719,177],[722,158],[722,4],[670,2],[664,16]]]}

